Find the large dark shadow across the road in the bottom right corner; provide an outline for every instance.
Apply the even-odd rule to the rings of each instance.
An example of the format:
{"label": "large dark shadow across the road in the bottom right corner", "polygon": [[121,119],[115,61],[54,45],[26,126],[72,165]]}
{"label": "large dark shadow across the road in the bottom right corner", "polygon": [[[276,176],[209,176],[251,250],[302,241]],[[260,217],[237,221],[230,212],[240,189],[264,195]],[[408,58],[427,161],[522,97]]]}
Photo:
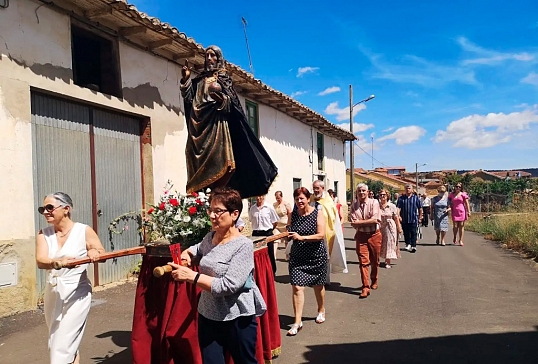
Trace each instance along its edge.
{"label": "large dark shadow across the road in the bottom right corner", "polygon": [[531,364],[538,332],[473,334],[356,344],[307,346],[304,363]]}

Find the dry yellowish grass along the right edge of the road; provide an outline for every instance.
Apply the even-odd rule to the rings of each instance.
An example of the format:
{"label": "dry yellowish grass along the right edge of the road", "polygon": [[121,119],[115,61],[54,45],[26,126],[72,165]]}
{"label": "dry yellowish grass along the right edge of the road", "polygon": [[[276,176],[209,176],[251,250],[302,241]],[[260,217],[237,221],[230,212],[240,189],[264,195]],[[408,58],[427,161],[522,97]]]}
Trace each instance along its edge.
{"label": "dry yellowish grass along the right edge of the road", "polygon": [[538,212],[506,213],[485,217],[471,215],[465,228],[486,239],[503,242],[508,248],[538,257]]}

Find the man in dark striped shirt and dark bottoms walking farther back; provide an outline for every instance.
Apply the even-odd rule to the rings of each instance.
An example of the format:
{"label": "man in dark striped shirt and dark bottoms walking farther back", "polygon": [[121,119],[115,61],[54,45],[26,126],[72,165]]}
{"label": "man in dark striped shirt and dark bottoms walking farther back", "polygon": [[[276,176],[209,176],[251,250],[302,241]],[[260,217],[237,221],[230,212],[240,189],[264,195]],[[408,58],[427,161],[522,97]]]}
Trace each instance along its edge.
{"label": "man in dark striped shirt and dark bottoms walking farther back", "polygon": [[405,194],[398,198],[396,208],[401,218],[405,249],[411,253],[416,253],[418,223],[422,221],[422,203],[420,198],[413,193],[412,184],[405,185]]}

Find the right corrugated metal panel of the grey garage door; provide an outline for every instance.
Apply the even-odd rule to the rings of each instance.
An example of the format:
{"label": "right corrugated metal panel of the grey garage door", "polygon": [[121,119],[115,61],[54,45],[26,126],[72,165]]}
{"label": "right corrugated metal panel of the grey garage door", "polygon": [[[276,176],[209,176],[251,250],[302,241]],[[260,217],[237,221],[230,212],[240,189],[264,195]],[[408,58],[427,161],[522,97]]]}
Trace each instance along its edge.
{"label": "right corrugated metal panel of the grey garage door", "polygon": [[[140,120],[94,110],[93,124],[97,204],[102,211],[98,235],[108,251],[137,246],[140,239],[134,221],[121,235],[109,236],[108,226],[119,215],[142,208]],[[140,255],[134,255],[100,264],[99,283],[125,278],[140,259]]]}

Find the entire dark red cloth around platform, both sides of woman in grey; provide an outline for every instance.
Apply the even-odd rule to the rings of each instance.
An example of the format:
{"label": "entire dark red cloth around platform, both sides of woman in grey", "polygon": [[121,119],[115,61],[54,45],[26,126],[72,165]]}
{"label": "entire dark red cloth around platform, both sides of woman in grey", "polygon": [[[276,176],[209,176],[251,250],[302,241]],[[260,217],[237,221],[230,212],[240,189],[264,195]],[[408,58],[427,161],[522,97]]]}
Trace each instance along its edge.
{"label": "entire dark red cloth around platform, both sides of woman in grey", "polygon": [[[135,294],[132,351],[134,364],[201,364],[198,345],[198,295],[189,283],[169,274],[153,277],[153,269],[170,258],[144,256]],[[254,280],[267,304],[258,317],[256,357],[260,364],[280,354],[280,322],[275,282],[267,248],[254,252]],[[231,359],[228,363],[233,363]]]}

